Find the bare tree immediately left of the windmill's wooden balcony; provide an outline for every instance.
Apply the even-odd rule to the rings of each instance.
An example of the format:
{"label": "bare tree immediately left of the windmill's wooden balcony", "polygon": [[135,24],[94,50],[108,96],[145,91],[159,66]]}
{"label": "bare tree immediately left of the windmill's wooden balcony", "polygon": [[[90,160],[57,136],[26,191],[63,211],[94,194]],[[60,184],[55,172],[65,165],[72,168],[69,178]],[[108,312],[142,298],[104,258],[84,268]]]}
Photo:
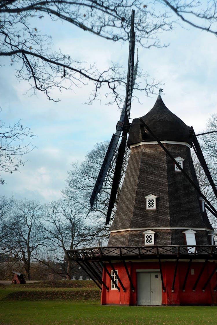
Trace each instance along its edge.
{"label": "bare tree immediately left of the windmill's wooden balcony", "polygon": [[72,263],[67,250],[84,246],[93,240],[85,220],[84,208],[68,200],[51,202],[44,208],[43,248],[38,259],[49,267],[50,273],[58,273],[70,279]]}

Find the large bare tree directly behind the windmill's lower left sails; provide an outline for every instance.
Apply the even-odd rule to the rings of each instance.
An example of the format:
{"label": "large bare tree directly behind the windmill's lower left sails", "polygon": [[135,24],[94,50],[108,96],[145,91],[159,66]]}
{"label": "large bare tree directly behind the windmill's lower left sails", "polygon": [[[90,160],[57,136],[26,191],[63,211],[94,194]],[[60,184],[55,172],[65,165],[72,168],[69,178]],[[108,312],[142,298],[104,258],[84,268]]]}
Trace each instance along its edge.
{"label": "large bare tree directly behind the windmill's lower left sails", "polygon": [[[81,164],[72,164],[73,168],[68,172],[69,176],[66,180],[67,187],[62,191],[64,198],[83,207],[83,214],[85,216],[88,216],[89,225],[91,227],[90,231],[92,235],[96,238],[96,240],[100,239],[104,241],[108,238],[108,226],[105,226],[105,220],[115,169],[115,157],[110,165],[110,169],[103,184],[100,196],[98,197],[97,203],[92,211],[90,211],[89,200],[96,179],[99,175],[99,171],[102,166],[108,144],[109,142],[107,141],[97,143],[94,148],[88,152],[84,162]],[[128,158],[129,150],[126,150],[115,207],[111,215],[111,222],[115,216],[116,204],[119,200],[120,190],[123,184]]]}

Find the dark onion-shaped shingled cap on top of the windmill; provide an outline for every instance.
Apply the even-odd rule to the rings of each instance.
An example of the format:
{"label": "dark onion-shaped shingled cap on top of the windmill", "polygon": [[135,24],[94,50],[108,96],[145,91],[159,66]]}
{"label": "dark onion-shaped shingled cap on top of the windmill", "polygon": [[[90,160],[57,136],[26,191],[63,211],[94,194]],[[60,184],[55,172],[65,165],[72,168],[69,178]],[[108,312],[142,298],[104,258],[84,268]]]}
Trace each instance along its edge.
{"label": "dark onion-shaped shingled cap on top of the windmill", "polygon": [[[154,107],[141,119],[161,141],[187,142],[190,144],[190,126],[186,125],[178,116],[173,114],[164,104],[160,95]],[[142,136],[140,118],[134,119],[130,126],[128,146],[143,142],[155,141],[153,136],[145,129]]]}

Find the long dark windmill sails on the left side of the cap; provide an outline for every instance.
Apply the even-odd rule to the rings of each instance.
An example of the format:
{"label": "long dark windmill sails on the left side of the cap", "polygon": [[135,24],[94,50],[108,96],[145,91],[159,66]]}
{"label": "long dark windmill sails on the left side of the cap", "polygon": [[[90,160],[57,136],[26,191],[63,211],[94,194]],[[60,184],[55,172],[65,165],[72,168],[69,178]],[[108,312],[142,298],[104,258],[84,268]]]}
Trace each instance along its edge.
{"label": "long dark windmill sails on the left side of the cap", "polygon": [[[94,202],[96,201],[97,196],[102,189],[103,182],[104,182],[106,175],[109,171],[111,162],[114,159],[115,151],[117,149],[118,141],[120,139],[121,132],[122,132],[122,140],[121,140],[121,144],[118,148],[117,161],[115,164],[115,175],[114,175],[115,186],[112,185],[112,191],[111,191],[112,201],[111,201],[111,197],[110,197],[110,201],[112,203],[109,203],[109,209],[111,211],[112,211],[111,205],[113,204],[113,202],[115,204],[117,188],[118,188],[118,185],[120,182],[121,167],[123,164],[124,152],[125,152],[125,147],[126,147],[126,139],[127,139],[127,134],[129,132],[129,116],[130,116],[132,91],[133,91],[133,86],[135,84],[136,73],[137,73],[137,68],[138,68],[138,55],[137,55],[137,62],[135,64],[135,67],[133,66],[134,65],[134,48],[135,48],[134,13],[135,13],[135,11],[132,10],[131,26],[130,26],[130,40],[129,40],[129,60],[128,60],[126,97],[125,97],[124,105],[123,105],[123,108],[121,111],[120,120],[118,121],[117,126],[116,126],[116,132],[115,132],[115,134],[113,134],[113,136],[111,138],[107,152],[105,154],[105,158],[102,163],[102,167],[100,169],[100,173],[97,177],[95,186],[92,191],[92,195],[90,197],[90,207],[91,208],[93,208]],[[125,144],[124,144],[124,142],[125,142]],[[117,164],[121,165],[120,171],[118,168],[116,168]],[[113,180],[113,183],[114,183],[114,180]],[[116,192],[115,192],[115,190],[116,190]],[[115,192],[115,194],[114,194],[114,192]],[[113,195],[112,195],[112,193],[113,193]],[[113,204],[113,207],[114,207],[114,204]],[[111,213],[110,213],[110,215],[111,215]],[[109,218],[107,216],[106,224],[109,222],[109,221],[107,222],[107,220],[110,220],[110,215],[109,215]]]}

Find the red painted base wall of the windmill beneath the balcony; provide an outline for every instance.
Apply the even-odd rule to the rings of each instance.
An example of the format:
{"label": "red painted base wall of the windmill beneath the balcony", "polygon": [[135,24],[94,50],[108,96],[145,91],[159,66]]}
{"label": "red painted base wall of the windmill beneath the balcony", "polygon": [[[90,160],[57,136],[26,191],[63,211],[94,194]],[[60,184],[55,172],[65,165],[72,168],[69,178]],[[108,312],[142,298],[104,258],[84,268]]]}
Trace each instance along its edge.
{"label": "red painted base wall of the windmill beneath the balcony", "polygon": [[[114,289],[111,290],[111,279],[103,270],[102,280],[109,288],[107,292],[106,288],[102,286],[102,296],[101,296],[101,303],[102,305],[137,305],[137,272],[136,269],[149,269],[150,271],[153,269],[159,269],[158,262],[147,262],[147,261],[132,261],[126,262],[127,268],[130,274],[130,277],[133,282],[133,286],[135,291],[133,292],[130,289],[130,282],[127,276],[127,272],[123,263],[121,262],[112,262],[115,270],[118,270],[118,276],[120,277],[126,292],[123,291],[121,288],[120,283],[118,286],[120,287],[120,291]],[[183,292],[183,284],[186,277],[187,269],[189,266],[189,262],[182,262],[179,261],[175,285],[174,285],[174,292],[172,292],[172,283],[174,277],[174,271],[176,266],[176,261],[170,262],[165,261],[161,262],[162,267],[162,274],[163,274],[163,281],[165,292],[162,290],[162,305],[217,305],[217,292],[214,292],[214,287],[217,284],[217,273],[214,272],[213,276],[211,277],[209,283],[206,286],[205,291],[202,291],[203,286],[207,282],[209,276],[211,275],[214,267],[216,266],[217,261],[208,262],[202,272],[202,275],[197,283],[196,289],[193,292],[192,288],[197,281],[199,273],[204,266],[204,261],[192,261],[188,277],[185,285],[185,290]],[[111,266],[106,264],[106,268],[111,272]],[[194,273],[194,274],[192,274]]]}

